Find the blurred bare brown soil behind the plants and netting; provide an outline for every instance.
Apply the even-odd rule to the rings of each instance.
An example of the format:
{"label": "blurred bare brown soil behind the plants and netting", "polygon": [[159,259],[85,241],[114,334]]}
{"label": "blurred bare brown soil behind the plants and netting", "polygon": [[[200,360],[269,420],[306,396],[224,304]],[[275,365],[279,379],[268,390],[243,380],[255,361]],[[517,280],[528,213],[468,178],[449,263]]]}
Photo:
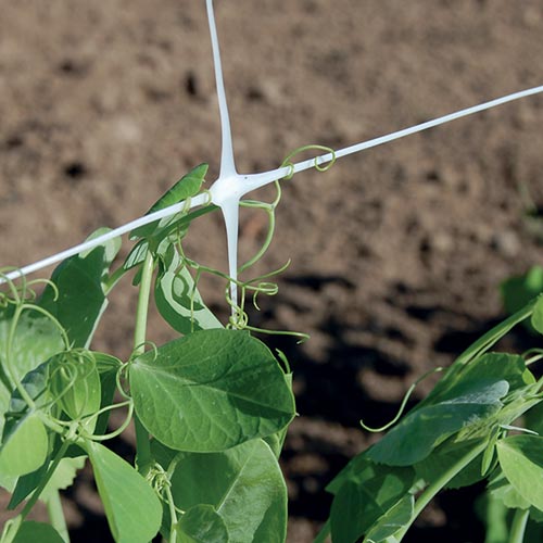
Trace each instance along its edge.
{"label": "blurred bare brown soil behind the plants and netting", "polygon": [[[216,3],[240,172],[543,83],[540,0]],[[203,0],[0,0],[2,265],[137,217],[201,162],[214,178],[206,25]],[[358,420],[386,422],[416,377],[503,316],[500,282],[542,262],[525,198],[543,206],[542,126],[543,97],[525,99],[283,184],[262,269],[292,264],[253,318],[312,334],[270,341],[291,359],[301,415],[282,463],[289,542],[312,540],[325,484],[369,443]],[[195,229],[190,254],[225,268],[219,215]],[[264,217],[243,217],[244,255],[265,231]],[[113,296],[98,349],[127,356],[134,307],[129,287]],[[151,339],[172,337],[153,320]],[[106,541],[88,472],[65,497],[73,540]],[[412,541],[482,541],[471,500],[441,498]]]}

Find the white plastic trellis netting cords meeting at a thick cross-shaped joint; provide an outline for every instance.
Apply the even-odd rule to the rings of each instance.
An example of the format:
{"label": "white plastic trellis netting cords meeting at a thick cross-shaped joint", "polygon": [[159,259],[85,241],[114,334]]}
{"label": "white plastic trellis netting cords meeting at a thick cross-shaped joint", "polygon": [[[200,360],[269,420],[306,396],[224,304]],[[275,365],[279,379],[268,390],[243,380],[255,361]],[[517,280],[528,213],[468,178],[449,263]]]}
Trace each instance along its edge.
{"label": "white plastic trellis netting cords meeting at a thick cross-shaped joint", "polygon": [[[420,132],[422,130],[427,130],[429,128],[433,128],[435,126],[450,123],[451,121],[455,121],[457,118],[465,117],[467,115],[472,115],[481,111],[490,110],[491,108],[495,108],[496,105],[501,105],[507,102],[513,102],[514,100],[519,100],[525,97],[543,92],[543,85],[539,87],[532,87],[530,89],[521,90],[519,92],[514,92],[512,94],[507,94],[497,98],[495,100],[483,102],[481,104],[473,105],[471,108],[467,108],[408,128],[404,128],[402,130],[397,130],[388,134],[386,136],[380,136],[378,138],[363,141],[354,146],[339,149],[338,151],[334,151],[333,155],[332,153],[327,153],[319,155],[315,159],[302,161],[291,166],[280,167],[269,172],[263,172],[260,174],[239,175],[236,172],[236,165],[233,160],[230,123],[228,117],[228,106],[224,88],[223,71],[220,65],[220,55],[218,50],[218,39],[215,27],[215,18],[213,14],[213,1],[212,0],[206,0],[206,1],[207,1],[207,16],[210,22],[210,31],[213,46],[213,55],[215,63],[215,78],[217,84],[217,96],[220,110],[220,123],[222,123],[222,135],[223,135],[220,175],[218,179],[211,187],[211,194],[212,194],[212,202],[222,209],[223,215],[225,217],[225,223],[227,228],[227,241],[228,241],[229,274],[232,278],[237,277],[238,220],[239,220],[238,204],[240,199],[248,192],[264,187],[265,185],[268,185],[276,180],[282,179],[288,175],[303,172],[304,169],[308,169],[311,167],[314,167],[315,165],[329,162],[330,160],[332,160],[333,155],[336,156],[336,159],[339,159],[342,156],[346,156],[349,154],[358,153],[366,149],[381,146],[383,143],[388,143],[389,141],[404,138],[405,136]],[[191,199],[190,209],[203,205],[206,202],[207,202],[207,197],[205,194],[199,194]],[[51,256],[48,256],[47,258],[24,266],[23,268],[4,274],[2,276],[3,278],[0,278],[0,285],[5,282],[7,280],[17,279],[22,276],[26,276],[34,272],[38,272],[39,269],[42,269],[52,264],[56,264],[63,261],[64,258],[67,258],[75,254],[79,254],[84,251],[88,251],[89,249],[99,247],[105,243],[108,240],[122,236],[123,233],[126,233],[132,230],[134,228],[147,225],[159,218],[174,215],[176,213],[179,213],[184,209],[185,209],[185,201],[181,201],[179,203],[165,207],[164,210],[160,210],[150,215],[131,220],[130,223],[119,226],[118,228],[115,228],[103,236],[99,236],[90,241],[86,241],[84,243],[74,245],[70,249],[66,249],[65,251],[61,251]],[[236,291],[236,285],[233,282],[232,282],[231,294],[232,294],[232,301],[236,302],[237,291]]]}

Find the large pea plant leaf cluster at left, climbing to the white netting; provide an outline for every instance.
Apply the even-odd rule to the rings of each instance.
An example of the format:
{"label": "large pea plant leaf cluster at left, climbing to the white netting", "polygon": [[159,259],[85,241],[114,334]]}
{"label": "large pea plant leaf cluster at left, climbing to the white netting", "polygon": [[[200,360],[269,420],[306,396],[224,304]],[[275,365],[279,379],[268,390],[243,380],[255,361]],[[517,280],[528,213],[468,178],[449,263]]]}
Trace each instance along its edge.
{"label": "large pea plant leaf cluster at left, climbing to the white netting", "polygon": [[[206,169],[194,168],[150,211],[197,193]],[[117,542],[148,543],[159,532],[171,542],[285,541],[278,456],[295,414],[291,377],[283,357],[247,330],[224,328],[198,293],[180,240],[211,209],[132,231],[139,241],[113,273],[118,240],[64,261],[40,296],[30,282],[7,282],[0,484],[10,509],[26,503],[2,543],[68,541],[59,490],[87,458]],[[108,293],[129,269],[140,301],[134,353],[123,362],[90,342]],[[161,346],[144,338],[153,276],[157,308],[182,334]],[[112,409],[126,419],[109,431]],[[132,419],[135,467],[104,444]],[[37,500],[52,526],[26,519]]]}

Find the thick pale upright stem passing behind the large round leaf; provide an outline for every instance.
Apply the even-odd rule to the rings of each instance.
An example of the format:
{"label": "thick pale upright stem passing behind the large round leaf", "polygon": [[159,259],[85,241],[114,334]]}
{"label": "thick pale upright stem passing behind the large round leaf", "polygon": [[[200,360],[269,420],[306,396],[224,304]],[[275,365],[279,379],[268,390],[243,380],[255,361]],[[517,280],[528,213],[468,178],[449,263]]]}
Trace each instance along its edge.
{"label": "thick pale upright stem passing behind the large round leaf", "polygon": [[[154,258],[151,251],[148,251],[141,269],[138,307],[136,311],[136,329],[134,331],[134,354],[136,355],[143,354],[146,349],[147,315],[149,312],[153,270]],[[134,426],[136,428],[136,465],[139,471],[144,473],[151,463],[149,432],[146,430],[136,413],[134,414]]]}

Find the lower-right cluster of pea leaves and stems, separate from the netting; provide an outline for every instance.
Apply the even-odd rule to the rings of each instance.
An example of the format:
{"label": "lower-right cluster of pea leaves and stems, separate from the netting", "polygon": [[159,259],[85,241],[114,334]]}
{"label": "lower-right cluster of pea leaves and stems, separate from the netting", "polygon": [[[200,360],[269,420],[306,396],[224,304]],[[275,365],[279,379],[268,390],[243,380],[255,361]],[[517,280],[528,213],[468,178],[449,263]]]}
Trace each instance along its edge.
{"label": "lower-right cluster of pea leaves and stems, separate from the netting", "polygon": [[333,479],[319,540],[331,532],[342,543],[397,543],[438,492],[482,480],[487,542],[542,540],[543,382],[528,366],[543,351],[489,352],[521,321],[543,333],[543,298],[466,350],[422,402]]}

